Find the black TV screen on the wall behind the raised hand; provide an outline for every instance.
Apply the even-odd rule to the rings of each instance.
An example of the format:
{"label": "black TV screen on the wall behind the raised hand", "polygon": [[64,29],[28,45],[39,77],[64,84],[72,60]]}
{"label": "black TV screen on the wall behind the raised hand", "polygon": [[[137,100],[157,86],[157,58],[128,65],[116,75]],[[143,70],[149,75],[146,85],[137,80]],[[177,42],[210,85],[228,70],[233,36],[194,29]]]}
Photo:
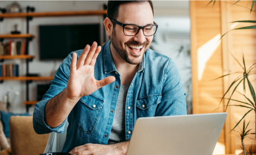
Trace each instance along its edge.
{"label": "black TV screen on the wall behind the raised hand", "polygon": [[63,60],[94,41],[100,45],[100,24],[39,26],[40,60]]}

